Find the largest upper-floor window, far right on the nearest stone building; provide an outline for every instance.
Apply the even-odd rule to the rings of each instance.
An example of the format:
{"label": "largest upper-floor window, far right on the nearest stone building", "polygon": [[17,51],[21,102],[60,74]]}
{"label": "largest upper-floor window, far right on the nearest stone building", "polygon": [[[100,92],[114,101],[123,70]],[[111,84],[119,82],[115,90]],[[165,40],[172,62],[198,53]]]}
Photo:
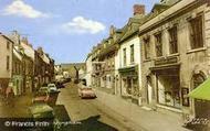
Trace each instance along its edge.
{"label": "largest upper-floor window, far right on the nearest stone building", "polygon": [[189,20],[190,23],[190,43],[191,48],[203,47],[202,37],[202,15]]}

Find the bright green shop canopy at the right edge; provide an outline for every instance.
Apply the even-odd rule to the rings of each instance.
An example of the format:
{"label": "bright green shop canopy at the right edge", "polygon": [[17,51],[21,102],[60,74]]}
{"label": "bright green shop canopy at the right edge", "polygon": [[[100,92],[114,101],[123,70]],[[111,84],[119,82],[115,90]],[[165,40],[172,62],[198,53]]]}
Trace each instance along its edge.
{"label": "bright green shop canopy at the right edge", "polygon": [[210,78],[189,92],[188,96],[196,99],[210,100]]}

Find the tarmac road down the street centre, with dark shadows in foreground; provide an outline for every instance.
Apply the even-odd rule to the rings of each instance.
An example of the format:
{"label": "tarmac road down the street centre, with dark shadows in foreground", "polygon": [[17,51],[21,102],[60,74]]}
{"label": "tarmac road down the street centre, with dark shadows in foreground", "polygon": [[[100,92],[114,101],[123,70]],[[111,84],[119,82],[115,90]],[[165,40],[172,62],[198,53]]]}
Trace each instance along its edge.
{"label": "tarmac road down the street centre, with dark shadows in foreground", "polygon": [[71,122],[66,124],[71,124],[73,131],[145,131],[97,101],[97,98],[81,99],[77,85],[72,83],[61,89],[56,105],[63,107],[59,116],[70,118]]}

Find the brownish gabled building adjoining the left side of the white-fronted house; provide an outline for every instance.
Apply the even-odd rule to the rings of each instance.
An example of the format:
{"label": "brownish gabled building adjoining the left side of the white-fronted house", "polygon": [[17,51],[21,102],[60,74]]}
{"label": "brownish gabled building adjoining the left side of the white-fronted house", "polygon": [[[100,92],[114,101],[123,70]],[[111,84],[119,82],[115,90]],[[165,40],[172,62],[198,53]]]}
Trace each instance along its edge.
{"label": "brownish gabled building adjoining the left side of the white-fronted house", "polygon": [[116,30],[113,25],[109,29],[109,36],[102,41],[101,52],[97,55],[98,62],[101,63],[101,87],[105,87],[105,89],[115,94],[115,57],[118,51],[118,44],[116,41],[118,40],[120,34],[120,30]]}

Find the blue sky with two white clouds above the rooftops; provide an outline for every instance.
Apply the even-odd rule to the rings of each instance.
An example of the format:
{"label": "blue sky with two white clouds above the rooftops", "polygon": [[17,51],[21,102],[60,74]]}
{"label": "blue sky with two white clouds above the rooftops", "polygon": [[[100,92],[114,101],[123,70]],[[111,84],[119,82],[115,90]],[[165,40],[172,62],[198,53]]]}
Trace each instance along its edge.
{"label": "blue sky with two white clouds above the rooftops", "polygon": [[123,28],[134,4],[146,12],[159,0],[0,0],[0,32],[17,30],[60,63],[85,62],[92,47]]}

